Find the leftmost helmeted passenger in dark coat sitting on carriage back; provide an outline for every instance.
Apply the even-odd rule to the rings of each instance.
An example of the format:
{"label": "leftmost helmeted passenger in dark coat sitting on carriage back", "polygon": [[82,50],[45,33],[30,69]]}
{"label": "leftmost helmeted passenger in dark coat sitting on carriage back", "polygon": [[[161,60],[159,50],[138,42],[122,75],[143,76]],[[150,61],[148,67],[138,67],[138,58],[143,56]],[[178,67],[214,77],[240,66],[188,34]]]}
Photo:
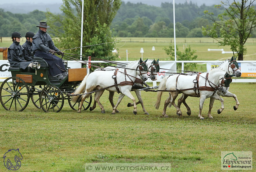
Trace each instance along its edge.
{"label": "leftmost helmeted passenger in dark coat sitting on carriage back", "polygon": [[19,45],[19,41],[21,40],[21,34],[19,32],[14,32],[11,35],[13,43],[8,48],[7,58],[10,62],[11,67],[19,67],[26,72],[32,71],[32,58],[26,57],[24,54],[24,48]]}

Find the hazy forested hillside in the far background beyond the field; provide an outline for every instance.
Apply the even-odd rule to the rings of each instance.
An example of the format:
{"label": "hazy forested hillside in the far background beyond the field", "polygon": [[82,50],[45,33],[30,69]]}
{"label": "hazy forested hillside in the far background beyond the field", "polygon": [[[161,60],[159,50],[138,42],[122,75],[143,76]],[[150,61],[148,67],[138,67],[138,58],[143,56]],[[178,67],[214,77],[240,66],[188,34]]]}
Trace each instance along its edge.
{"label": "hazy forested hillside in the far background beyond the field", "polygon": [[[193,2],[175,4],[176,37],[203,37],[202,26],[213,23],[203,17],[205,10],[213,12],[216,19],[225,11],[224,7],[198,6]],[[64,16],[63,13],[59,15]],[[38,31],[35,26],[43,20],[46,20],[46,12],[34,10],[27,14],[13,14],[0,8],[0,36],[11,36],[15,31],[22,35],[27,31],[35,33]],[[55,24],[61,27],[60,23]],[[117,37],[174,37],[173,4],[165,2],[156,7],[122,2],[110,28],[112,36]],[[255,29],[251,36],[256,37]]]}

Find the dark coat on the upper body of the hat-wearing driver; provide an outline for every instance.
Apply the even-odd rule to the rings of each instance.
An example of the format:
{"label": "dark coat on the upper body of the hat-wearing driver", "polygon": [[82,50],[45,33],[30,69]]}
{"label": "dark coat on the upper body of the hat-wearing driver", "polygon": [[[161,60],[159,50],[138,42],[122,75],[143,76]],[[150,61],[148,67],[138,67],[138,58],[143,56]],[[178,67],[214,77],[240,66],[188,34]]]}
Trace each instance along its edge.
{"label": "dark coat on the upper body of the hat-wearing driver", "polygon": [[51,36],[48,33],[41,31],[40,29],[33,37],[32,45],[33,51],[41,50],[45,53],[48,53],[50,49],[59,51],[59,49],[54,46]]}

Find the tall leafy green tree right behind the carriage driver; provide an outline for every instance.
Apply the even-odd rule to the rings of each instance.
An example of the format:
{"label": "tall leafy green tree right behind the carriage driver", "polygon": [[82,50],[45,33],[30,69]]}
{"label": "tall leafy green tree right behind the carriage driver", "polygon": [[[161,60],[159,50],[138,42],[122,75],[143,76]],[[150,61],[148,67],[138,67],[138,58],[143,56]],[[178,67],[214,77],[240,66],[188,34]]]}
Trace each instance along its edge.
{"label": "tall leafy green tree right behind the carriage driver", "polygon": [[[101,44],[113,42],[112,31],[109,26],[115,17],[120,0],[84,1],[83,13],[83,45]],[[73,6],[75,8],[73,8]],[[47,12],[47,20],[51,25],[51,33],[60,40],[55,43],[59,49],[75,48],[81,40],[81,0],[63,0],[61,11],[64,16]],[[60,27],[58,26],[60,24]],[[112,54],[113,44],[102,44],[83,48],[83,55],[113,60],[117,55]],[[65,51],[67,52],[67,51]],[[71,52],[68,51],[68,52]],[[72,50],[74,54],[80,54],[80,49]]]}

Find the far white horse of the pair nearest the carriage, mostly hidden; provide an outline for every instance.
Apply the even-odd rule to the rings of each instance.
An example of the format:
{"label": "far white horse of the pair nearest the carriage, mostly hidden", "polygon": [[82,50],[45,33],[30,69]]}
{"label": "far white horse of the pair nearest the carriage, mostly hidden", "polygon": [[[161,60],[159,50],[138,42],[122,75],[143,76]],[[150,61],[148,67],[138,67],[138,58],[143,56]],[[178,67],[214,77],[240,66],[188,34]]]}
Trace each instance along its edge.
{"label": "far white horse of the pair nearest the carriage, mostly hidden", "polygon": [[[159,59],[157,61],[155,61],[155,59],[154,60],[148,59],[147,62],[146,62],[147,66],[148,66],[149,73],[150,73],[149,76],[150,76],[152,81],[157,80],[157,72],[159,72],[159,70],[160,70],[158,62],[159,62]],[[115,68],[114,67],[106,67],[105,69],[115,69]],[[142,86],[143,81],[141,81],[141,80],[140,80],[141,82],[138,82],[138,81],[139,80],[136,79],[135,84]],[[135,94],[138,97],[139,101],[136,102],[136,105],[141,104],[142,110],[144,111],[144,114],[149,115],[149,113],[147,112],[147,110],[145,109],[145,106],[143,104],[143,100],[141,98],[141,91],[139,91],[138,89],[134,89],[134,88],[132,88],[131,91],[134,91]],[[109,101],[110,101],[110,104],[111,104],[112,108],[114,108],[114,106],[115,106],[114,102],[113,102],[114,94],[115,94],[115,92],[109,91]],[[131,107],[131,106],[134,106],[134,105],[132,103],[128,103],[127,106]],[[94,103],[93,103],[93,106],[90,107],[90,111],[94,110],[95,108],[96,108],[96,100],[94,98]],[[118,113],[119,111],[116,109],[115,112]],[[102,111],[102,113],[105,113],[105,111]]]}

